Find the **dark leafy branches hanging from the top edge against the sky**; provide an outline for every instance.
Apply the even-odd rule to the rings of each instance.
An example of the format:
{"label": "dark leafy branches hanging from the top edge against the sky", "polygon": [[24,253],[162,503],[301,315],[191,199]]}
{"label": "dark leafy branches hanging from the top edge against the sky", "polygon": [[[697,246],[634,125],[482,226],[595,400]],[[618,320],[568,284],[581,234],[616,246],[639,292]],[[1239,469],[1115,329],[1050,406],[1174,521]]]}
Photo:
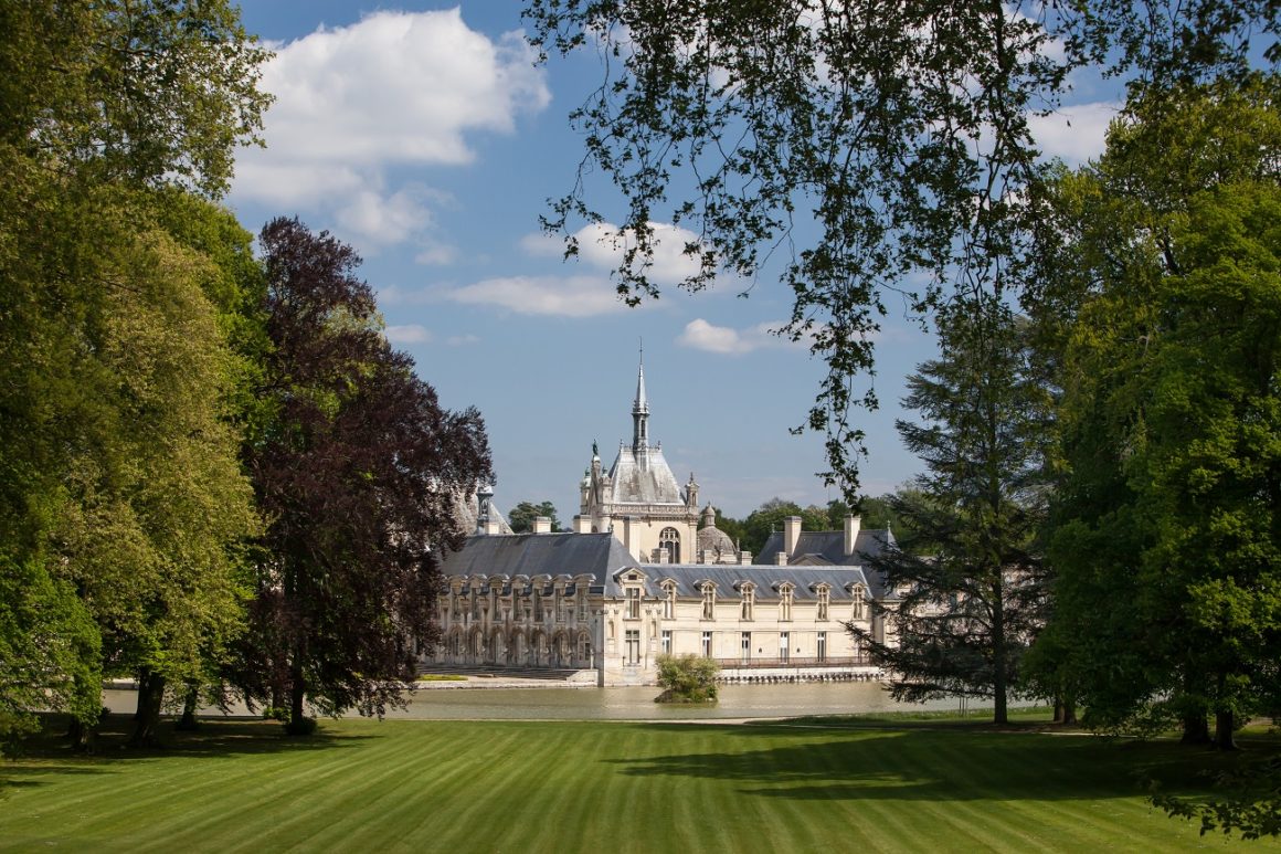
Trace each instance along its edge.
{"label": "dark leafy branches hanging from the top edge against the sky", "polygon": [[605,67],[571,113],[585,137],[578,181],[544,226],[576,253],[578,223],[607,221],[589,177],[612,182],[619,292],[633,304],[657,294],[662,240],[694,262],[690,290],[774,274],[792,249],[781,332],[828,365],[804,426],[828,436],[826,480],[853,501],[863,432],[849,410],[876,405],[854,377],[872,368],[886,305],[1017,289],[1041,237],[1029,119],[1084,67],[1134,85],[1239,73],[1278,14],[1268,0],[528,0],[544,58],[596,45]]}

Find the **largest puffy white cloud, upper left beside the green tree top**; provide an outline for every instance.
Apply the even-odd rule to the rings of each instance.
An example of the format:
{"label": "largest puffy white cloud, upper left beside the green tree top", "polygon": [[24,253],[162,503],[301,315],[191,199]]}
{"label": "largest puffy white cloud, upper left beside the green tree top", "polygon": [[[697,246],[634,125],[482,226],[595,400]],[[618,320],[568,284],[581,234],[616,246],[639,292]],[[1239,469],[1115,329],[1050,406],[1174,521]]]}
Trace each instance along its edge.
{"label": "largest puffy white cloud, upper left beside the green tree top", "polygon": [[[473,133],[510,133],[551,100],[519,33],[491,40],[459,9],[378,12],[284,45],[264,68],[268,147],[245,149],[233,199],[330,215],[373,245],[424,240],[434,199],[392,167],[460,165]],[[425,263],[441,263],[428,250]]]}

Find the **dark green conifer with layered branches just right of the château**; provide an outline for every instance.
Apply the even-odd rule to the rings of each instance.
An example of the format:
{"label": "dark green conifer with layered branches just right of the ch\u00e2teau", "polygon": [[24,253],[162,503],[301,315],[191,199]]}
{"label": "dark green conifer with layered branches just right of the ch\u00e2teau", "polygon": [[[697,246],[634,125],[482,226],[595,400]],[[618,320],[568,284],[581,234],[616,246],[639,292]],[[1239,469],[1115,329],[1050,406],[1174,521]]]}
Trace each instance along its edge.
{"label": "dark green conifer with layered branches just right of the ch\u00e2teau", "polygon": [[872,660],[894,673],[895,699],[993,698],[1007,722],[1020,658],[1040,626],[1049,394],[1031,367],[1022,323],[989,300],[947,317],[945,346],[908,378],[904,405],[924,423],[897,422],[926,467],[892,512],[938,549],[911,542],[869,560],[893,605],[874,603],[885,639],[847,623]]}

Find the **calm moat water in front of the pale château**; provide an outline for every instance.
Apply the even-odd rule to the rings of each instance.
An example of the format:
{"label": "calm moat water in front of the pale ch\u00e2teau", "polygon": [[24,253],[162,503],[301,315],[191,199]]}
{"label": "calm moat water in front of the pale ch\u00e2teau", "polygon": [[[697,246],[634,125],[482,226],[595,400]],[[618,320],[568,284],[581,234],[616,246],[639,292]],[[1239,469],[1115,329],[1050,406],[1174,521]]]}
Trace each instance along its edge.
{"label": "calm moat water in front of the pale ch\u00e2teau", "polygon": [[[660,689],[643,687],[520,687],[421,689],[409,695],[405,709],[389,718],[424,721],[690,721],[724,718],[785,718],[806,714],[957,710],[956,699],[925,704],[895,703],[875,682],[807,682],[797,685],[726,685],[714,707],[666,705],[653,701]],[[113,712],[132,712],[133,691],[108,690],[102,703]],[[983,708],[971,703],[971,710]],[[247,714],[245,709],[237,709]],[[205,709],[216,714],[215,709]]]}

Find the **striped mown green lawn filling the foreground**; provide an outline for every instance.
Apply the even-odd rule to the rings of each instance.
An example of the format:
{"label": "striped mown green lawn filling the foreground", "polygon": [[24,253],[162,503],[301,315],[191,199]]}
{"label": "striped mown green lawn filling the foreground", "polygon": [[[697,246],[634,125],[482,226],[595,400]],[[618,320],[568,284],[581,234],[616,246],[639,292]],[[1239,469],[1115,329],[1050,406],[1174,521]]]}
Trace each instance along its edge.
{"label": "striped mown green lawn filling the foreground", "polygon": [[[124,721],[109,726],[123,731]],[[1202,839],[1144,801],[1196,791],[1171,742],[939,722],[215,721],[159,753],[0,766],[0,850],[1099,851]]]}

